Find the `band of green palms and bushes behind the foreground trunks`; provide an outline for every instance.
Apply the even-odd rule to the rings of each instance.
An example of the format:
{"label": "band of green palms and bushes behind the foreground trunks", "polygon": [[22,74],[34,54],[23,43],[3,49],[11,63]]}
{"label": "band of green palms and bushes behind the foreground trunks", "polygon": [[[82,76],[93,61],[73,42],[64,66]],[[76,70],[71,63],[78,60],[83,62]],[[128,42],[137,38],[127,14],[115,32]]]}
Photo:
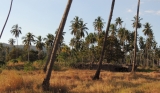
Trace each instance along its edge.
{"label": "band of green palms and bushes behind the foreground trunks", "polygon": [[[146,22],[140,23],[142,18],[139,18],[138,28],[143,28],[144,36],[138,36],[137,48],[137,63],[138,66],[156,67],[159,66],[160,49],[157,47],[157,42],[154,39],[154,33],[151,24]],[[133,27],[135,27],[136,17],[134,17]],[[115,20],[115,23],[110,25],[107,45],[103,62],[113,64],[131,64],[133,62],[134,51],[134,31],[122,27],[123,21],[120,17]],[[57,52],[57,61],[63,62],[66,65],[74,63],[94,63],[98,62],[103,46],[105,31],[103,30],[105,22],[100,16],[93,22],[93,27],[97,32],[88,33],[87,23],[82,18],[76,16],[71,21],[70,32],[73,37],[69,45],[64,43],[63,32],[61,42]],[[21,27],[14,25],[11,33],[17,39],[22,33]],[[55,31],[55,34],[57,31]],[[33,62],[36,60],[47,59],[53,46],[55,35],[48,34],[46,37],[35,36],[28,32],[22,37],[24,48],[19,48],[15,45],[17,41],[10,38],[8,43],[10,46],[0,44],[0,61],[8,62],[16,59],[18,61]],[[32,50],[32,45],[36,46],[37,50]],[[44,51],[44,49],[46,51]]]}

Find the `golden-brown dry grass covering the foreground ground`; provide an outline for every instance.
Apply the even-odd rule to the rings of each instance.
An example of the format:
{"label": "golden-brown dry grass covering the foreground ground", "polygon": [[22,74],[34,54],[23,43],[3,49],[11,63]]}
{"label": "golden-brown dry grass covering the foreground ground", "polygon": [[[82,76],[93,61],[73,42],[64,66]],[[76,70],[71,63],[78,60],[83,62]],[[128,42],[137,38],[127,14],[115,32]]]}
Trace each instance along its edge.
{"label": "golden-brown dry grass covering the foreground ground", "polygon": [[[95,70],[53,71],[49,93],[159,93],[160,73],[101,72],[93,81]],[[42,71],[3,70],[0,74],[0,93],[44,93]]]}

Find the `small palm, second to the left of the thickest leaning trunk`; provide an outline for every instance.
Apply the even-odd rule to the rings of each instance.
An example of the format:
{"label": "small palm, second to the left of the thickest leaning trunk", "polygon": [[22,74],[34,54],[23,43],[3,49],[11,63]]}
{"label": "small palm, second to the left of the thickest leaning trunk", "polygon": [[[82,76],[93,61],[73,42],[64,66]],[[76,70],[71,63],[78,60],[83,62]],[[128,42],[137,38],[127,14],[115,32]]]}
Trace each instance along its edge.
{"label": "small palm, second to the left of the thickest leaning trunk", "polygon": [[41,51],[43,50],[45,43],[42,42],[43,38],[41,36],[37,37],[36,41],[36,48],[38,50],[38,58],[40,59]]}

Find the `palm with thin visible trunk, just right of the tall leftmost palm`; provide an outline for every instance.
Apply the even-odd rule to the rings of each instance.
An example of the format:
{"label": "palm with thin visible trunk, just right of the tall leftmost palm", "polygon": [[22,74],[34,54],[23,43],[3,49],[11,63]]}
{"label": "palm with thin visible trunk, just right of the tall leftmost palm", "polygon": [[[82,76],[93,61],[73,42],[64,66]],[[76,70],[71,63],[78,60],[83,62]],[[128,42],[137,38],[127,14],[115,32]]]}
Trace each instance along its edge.
{"label": "palm with thin visible trunk, just right of the tall leftmost palm", "polygon": [[28,50],[28,62],[29,62],[30,46],[32,45],[32,43],[35,42],[34,37],[35,37],[35,35],[33,35],[30,32],[28,32],[25,37],[22,37],[22,40],[23,40],[22,42],[24,43],[25,47]]}

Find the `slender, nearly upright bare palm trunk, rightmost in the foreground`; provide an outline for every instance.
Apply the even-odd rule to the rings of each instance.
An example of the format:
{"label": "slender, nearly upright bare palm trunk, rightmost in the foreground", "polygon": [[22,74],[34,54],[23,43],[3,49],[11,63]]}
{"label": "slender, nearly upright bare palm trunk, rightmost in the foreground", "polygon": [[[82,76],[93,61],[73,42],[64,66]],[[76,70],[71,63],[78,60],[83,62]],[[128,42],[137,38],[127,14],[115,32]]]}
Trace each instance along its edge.
{"label": "slender, nearly upright bare palm trunk, rightmost in the foreground", "polygon": [[133,61],[132,71],[131,72],[135,72],[136,52],[137,52],[137,26],[138,26],[138,18],[139,18],[139,6],[140,6],[140,0],[138,0],[138,6],[137,6],[136,30],[135,30],[135,36],[134,36],[134,61]]}

